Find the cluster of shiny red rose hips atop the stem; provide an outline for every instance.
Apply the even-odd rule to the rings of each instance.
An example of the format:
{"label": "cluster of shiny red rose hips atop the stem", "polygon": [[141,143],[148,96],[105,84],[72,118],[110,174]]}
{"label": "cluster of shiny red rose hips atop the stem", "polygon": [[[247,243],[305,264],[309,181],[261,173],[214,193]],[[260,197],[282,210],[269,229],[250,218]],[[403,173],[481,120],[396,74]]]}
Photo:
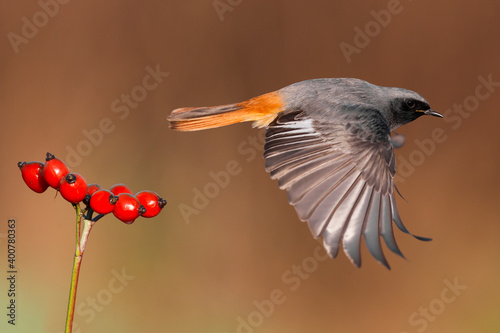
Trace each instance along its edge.
{"label": "cluster of shiny red rose hips atop the stem", "polygon": [[139,216],[154,217],[167,202],[152,191],[141,191],[135,195],[124,184],[116,184],[109,190],[97,184],[87,185],[85,179],[69,171],[64,161],[47,153],[45,163],[19,162],[23,180],[30,189],[43,193],[50,186],[62,197],[76,205],[83,202],[88,208],[88,217],[98,213],[93,221],[113,213],[120,221],[130,224]]}

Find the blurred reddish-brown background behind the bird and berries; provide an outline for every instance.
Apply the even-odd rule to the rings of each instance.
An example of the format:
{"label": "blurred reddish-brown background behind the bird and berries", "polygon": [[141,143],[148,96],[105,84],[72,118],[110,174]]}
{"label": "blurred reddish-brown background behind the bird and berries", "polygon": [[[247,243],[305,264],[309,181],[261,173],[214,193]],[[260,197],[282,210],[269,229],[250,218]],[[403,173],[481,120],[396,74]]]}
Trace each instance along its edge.
{"label": "blurred reddish-brown background behind the bird and berries", "polygon": [[[480,77],[500,82],[498,3],[55,4],[1,2],[0,260],[6,272],[14,217],[19,270],[15,327],[0,279],[2,332],[64,327],[74,212],[52,189],[30,191],[16,167],[47,151],[73,161],[89,183],[124,182],[168,200],[154,219],[96,224],[75,332],[500,331],[499,84],[475,97]],[[358,29],[368,29],[369,40],[356,37]],[[346,56],[341,44],[357,50]],[[155,70],[158,84],[146,80],[146,90]],[[411,231],[434,240],[397,231],[408,260],[385,249],[391,271],[364,247],[361,269],[343,253],[313,259],[319,243],[266,174],[262,145],[251,145],[259,131],[249,124],[168,128],[174,108],[238,102],[318,77],[412,89],[447,113],[400,131],[407,144],[397,151],[405,176],[398,186],[408,202],[399,200],[399,209]],[[131,93],[127,106],[122,94]],[[446,139],[430,144],[435,129]],[[195,191],[213,182],[210,172],[232,160],[241,172],[184,218],[180,207],[193,208]],[[263,302],[280,291],[281,304]]]}

